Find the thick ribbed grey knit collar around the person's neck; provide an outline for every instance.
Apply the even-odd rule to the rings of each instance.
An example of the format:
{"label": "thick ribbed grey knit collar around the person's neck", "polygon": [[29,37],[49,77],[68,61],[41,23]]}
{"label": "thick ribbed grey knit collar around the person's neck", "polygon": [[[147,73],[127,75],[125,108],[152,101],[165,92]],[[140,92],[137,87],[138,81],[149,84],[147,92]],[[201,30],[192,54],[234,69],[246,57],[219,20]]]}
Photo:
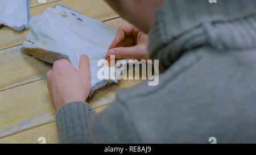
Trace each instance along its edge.
{"label": "thick ribbed grey knit collar around the person's neck", "polygon": [[[210,45],[221,50],[253,49],[255,0],[164,1],[150,30],[148,56],[164,72],[183,53]],[[231,39],[232,38],[232,39]]]}

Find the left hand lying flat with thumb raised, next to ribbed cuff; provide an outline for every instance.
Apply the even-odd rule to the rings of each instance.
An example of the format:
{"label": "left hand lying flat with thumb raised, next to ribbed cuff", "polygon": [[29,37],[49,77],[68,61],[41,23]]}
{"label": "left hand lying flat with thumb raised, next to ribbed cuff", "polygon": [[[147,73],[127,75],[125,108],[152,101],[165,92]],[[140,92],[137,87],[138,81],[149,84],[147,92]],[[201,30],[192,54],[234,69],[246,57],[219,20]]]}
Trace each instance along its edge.
{"label": "left hand lying flat with thumb raised, next to ribbed cuff", "polygon": [[53,64],[46,77],[49,94],[56,110],[67,103],[85,102],[90,94],[90,63],[86,55],[80,58],[79,70],[76,70],[67,59],[61,59]]}

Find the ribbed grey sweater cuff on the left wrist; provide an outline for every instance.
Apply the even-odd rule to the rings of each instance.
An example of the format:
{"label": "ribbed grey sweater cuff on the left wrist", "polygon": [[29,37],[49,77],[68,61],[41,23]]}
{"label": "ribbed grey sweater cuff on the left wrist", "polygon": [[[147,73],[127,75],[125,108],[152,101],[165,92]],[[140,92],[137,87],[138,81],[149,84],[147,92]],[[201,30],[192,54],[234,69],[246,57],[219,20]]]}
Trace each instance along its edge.
{"label": "ribbed grey sweater cuff on the left wrist", "polygon": [[90,120],[96,112],[86,102],[71,102],[56,113],[60,143],[92,143]]}

